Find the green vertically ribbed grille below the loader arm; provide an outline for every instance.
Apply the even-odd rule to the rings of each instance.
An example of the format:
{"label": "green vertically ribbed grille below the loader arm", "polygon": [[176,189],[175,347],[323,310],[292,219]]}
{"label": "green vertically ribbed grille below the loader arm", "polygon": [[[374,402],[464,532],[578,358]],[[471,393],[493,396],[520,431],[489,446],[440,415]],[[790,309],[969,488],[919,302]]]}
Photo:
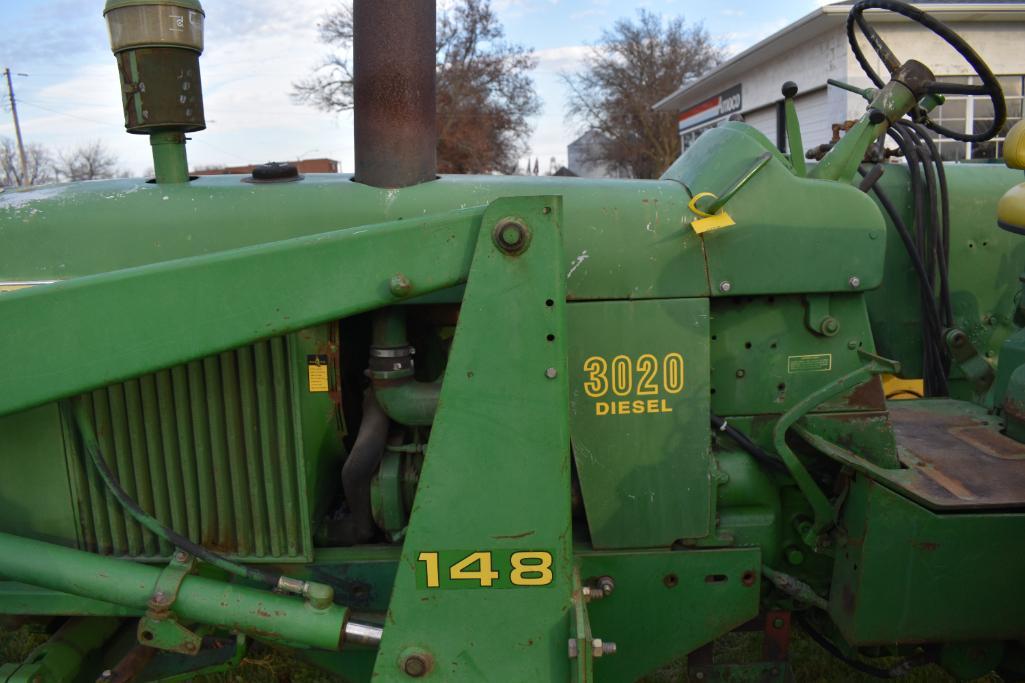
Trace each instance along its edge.
{"label": "green vertically ribbed grille below the loader arm", "polygon": [[[128,494],[178,533],[236,559],[312,555],[288,347],[275,337],[82,397]],[[81,444],[73,446],[83,548],[168,557],[169,545],[125,513]]]}

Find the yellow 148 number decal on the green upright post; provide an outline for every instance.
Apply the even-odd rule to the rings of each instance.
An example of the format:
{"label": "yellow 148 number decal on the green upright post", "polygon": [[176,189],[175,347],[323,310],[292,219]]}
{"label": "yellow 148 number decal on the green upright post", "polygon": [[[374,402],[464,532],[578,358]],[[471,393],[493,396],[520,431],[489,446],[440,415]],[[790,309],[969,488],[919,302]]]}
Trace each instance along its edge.
{"label": "yellow 148 number decal on the green upright post", "polygon": [[547,551],[424,551],[416,559],[423,589],[548,586],[555,578]]}

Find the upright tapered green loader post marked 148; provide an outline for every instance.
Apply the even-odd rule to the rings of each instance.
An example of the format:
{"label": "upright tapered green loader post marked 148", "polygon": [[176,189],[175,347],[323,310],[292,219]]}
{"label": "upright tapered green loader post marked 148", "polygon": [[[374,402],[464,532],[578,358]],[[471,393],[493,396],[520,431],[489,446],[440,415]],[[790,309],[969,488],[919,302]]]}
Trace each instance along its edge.
{"label": "upright tapered green loader post marked 148", "polygon": [[[509,223],[529,240],[509,243]],[[561,226],[559,197],[496,200],[482,218],[377,681],[570,677]]]}

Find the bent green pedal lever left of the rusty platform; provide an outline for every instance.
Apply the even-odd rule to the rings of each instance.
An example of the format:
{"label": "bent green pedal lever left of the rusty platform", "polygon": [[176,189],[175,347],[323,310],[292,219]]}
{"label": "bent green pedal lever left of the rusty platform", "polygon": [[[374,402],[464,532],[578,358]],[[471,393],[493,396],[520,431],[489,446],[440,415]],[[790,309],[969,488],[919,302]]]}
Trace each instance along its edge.
{"label": "bent green pedal lever left of the rusty platform", "polygon": [[776,427],[773,428],[773,447],[775,447],[776,452],[783,459],[783,464],[789,470],[790,476],[793,477],[794,483],[797,484],[797,488],[801,489],[801,492],[808,499],[809,505],[812,506],[814,520],[806,528],[801,529],[803,539],[811,548],[820,549],[824,547],[825,539],[822,538],[822,534],[835,523],[836,511],[829,503],[829,498],[826,497],[822,489],[812,479],[812,475],[809,474],[797,455],[786,444],[786,433],[794,423],[815,409],[816,406],[821,405],[831,398],[846,394],[858,385],[867,381],[873,375],[884,372],[892,374],[900,372],[900,363],[896,361],[876,356],[866,351],[859,351],[859,353],[862,357],[868,359],[865,365],[812,392],[783,413],[776,423]]}

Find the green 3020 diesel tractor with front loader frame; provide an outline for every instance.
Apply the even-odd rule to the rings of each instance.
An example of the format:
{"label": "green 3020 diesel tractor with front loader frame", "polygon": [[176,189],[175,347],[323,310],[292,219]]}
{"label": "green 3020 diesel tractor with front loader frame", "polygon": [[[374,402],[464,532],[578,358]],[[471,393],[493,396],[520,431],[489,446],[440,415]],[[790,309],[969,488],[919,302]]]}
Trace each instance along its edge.
{"label": "green 3020 diesel tractor with front loader frame", "polygon": [[[194,177],[203,10],[108,2],[155,177],[0,194],[0,613],[52,633],[0,679],[261,644],[350,681],[785,681],[792,622],[880,677],[1025,676],[1025,185],[928,130],[966,138],[952,93],[1002,126],[971,46],[858,2],[875,87],[816,164],[784,84],[790,155],[729,122],[658,180],[438,177],[433,5],[355,3],[353,176]],[[761,660],[710,656],[752,628]]]}

